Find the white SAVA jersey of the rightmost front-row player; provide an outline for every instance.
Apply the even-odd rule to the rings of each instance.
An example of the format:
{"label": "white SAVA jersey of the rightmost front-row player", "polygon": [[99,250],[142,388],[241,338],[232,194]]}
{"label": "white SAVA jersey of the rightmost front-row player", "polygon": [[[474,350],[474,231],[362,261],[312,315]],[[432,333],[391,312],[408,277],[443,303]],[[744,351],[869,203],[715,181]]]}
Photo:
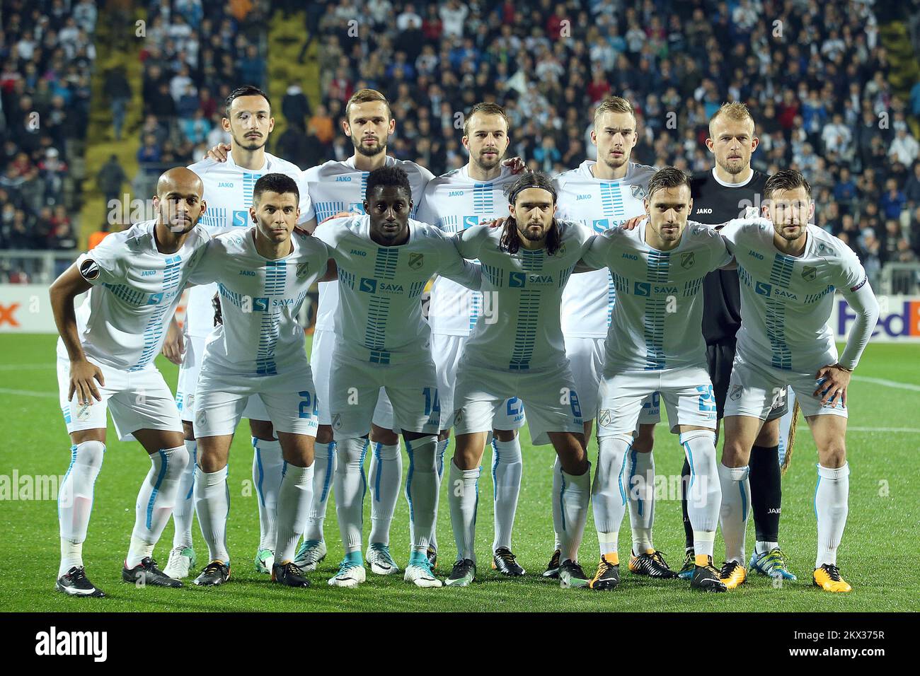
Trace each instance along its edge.
{"label": "white SAVA jersey of the rightmost front-row player", "polygon": [[804,253],[781,254],[773,244],[773,223],[765,218],[730,221],[719,232],[738,261],[739,352],[798,372],[835,363],[834,332],[827,326],[834,289],[847,296],[867,283],[853,250],[809,225]]}

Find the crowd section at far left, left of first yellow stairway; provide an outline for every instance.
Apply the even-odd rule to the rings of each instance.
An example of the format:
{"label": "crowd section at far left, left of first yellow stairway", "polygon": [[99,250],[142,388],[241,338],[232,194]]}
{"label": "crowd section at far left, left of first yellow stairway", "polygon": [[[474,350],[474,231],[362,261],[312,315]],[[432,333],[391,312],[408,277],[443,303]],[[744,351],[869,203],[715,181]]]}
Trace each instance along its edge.
{"label": "crowd section at far left, left of first yellow stairway", "polygon": [[[4,0],[0,14],[0,248],[73,249],[96,60],[93,0]],[[0,281],[28,281],[0,263]]]}

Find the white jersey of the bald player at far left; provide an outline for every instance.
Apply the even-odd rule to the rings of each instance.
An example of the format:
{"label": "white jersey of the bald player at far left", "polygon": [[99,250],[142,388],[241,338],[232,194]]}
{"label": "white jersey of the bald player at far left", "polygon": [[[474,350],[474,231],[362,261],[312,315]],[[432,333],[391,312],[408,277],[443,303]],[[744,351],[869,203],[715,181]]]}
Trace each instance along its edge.
{"label": "white jersey of the bald player at far left", "polygon": [[[154,361],[186,281],[211,238],[196,225],[176,253],[161,254],[155,224],[134,223],[76,259],[83,279],[93,285],[76,310],[83,351],[123,371],[140,371]],[[60,339],[58,354],[67,356]]]}

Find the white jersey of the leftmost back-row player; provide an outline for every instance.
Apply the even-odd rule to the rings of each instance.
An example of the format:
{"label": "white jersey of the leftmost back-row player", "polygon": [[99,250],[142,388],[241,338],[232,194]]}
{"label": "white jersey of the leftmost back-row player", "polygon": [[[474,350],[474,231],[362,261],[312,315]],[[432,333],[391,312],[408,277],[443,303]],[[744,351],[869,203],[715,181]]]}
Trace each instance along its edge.
{"label": "white jersey of the leftmost back-row player", "polygon": [[[210,235],[221,235],[253,225],[249,219],[252,189],[256,187],[256,181],[265,174],[285,174],[297,181],[297,188],[300,189],[298,223],[305,223],[314,217],[313,205],[310,203],[306,185],[302,182],[300,168],[280,157],[266,153],[265,166],[258,171],[238,166],[233,161],[233,155],[229,153],[226,162],[207,159],[196,162],[189,168],[198,174],[204,183],[204,201],[207,209],[201,214],[198,223],[203,225]],[[211,333],[214,327],[211,299],[216,292],[217,287],[213,284],[195,287],[189,292],[186,332],[190,336],[203,338]]]}

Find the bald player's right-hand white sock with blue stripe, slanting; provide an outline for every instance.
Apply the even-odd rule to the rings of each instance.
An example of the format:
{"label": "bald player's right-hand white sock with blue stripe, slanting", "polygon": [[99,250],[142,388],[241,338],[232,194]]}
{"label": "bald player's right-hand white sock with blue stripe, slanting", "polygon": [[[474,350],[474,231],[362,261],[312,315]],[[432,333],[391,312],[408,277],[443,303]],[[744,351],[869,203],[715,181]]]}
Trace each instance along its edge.
{"label": "bald player's right-hand white sock with blue stripe, slanting", "polygon": [[154,555],[154,546],[167,527],[176,504],[179,481],[189,464],[185,446],[167,448],[150,455],[150,471],[144,477],[134,504],[134,531],[125,565],[137,567]]}

